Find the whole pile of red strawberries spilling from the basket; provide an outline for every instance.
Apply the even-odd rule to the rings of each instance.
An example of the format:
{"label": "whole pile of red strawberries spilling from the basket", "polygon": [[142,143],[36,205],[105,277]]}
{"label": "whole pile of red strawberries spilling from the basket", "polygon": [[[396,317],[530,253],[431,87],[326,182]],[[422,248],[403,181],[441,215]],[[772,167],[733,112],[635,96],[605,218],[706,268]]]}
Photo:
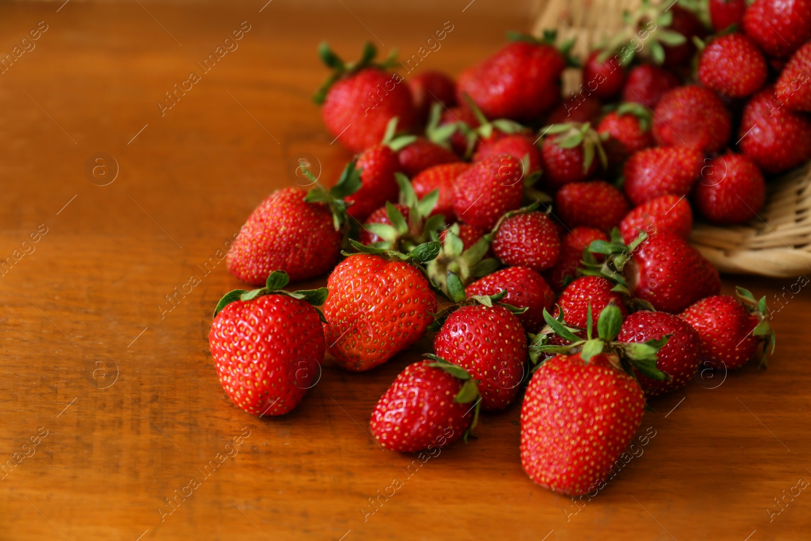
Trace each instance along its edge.
{"label": "whole pile of red strawberries spilling from the basket", "polygon": [[234,404],[285,414],[325,354],[366,371],[432,333],[371,411],[380,446],[441,448],[518,400],[526,473],[577,495],[605,486],[646,397],[765,359],[765,298],[720,295],[687,238],[694,212],[757,217],[811,157],[811,2],[668,4],[626,15],[566,100],[554,32],[456,81],[322,45],[316,101],[357,154],[332,188],[300,168],[311,189],[268,196],[228,254],[260,288],[226,294],[208,337]]}

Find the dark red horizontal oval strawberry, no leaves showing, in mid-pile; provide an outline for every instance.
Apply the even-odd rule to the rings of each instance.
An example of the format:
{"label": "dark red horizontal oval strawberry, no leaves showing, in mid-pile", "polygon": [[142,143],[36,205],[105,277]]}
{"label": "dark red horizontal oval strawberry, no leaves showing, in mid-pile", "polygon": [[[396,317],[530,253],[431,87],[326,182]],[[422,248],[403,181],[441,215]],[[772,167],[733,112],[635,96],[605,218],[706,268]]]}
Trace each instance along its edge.
{"label": "dark red horizontal oval strawberry, no leaves showing, in mid-pile", "polygon": [[610,231],[628,213],[628,201],[613,184],[603,180],[569,182],[555,195],[556,215],[569,227],[586,225]]}

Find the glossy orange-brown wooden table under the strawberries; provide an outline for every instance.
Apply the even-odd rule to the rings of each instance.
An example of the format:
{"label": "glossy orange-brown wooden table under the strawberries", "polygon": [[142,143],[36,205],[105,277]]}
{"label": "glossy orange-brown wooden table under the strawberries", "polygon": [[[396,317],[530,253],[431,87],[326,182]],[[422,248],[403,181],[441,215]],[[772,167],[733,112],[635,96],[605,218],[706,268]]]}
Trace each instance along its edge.
{"label": "glossy orange-brown wooden table under the strawberries", "polygon": [[[0,258],[19,259],[0,276],[0,539],[809,539],[811,495],[785,496],[811,479],[811,301],[795,280],[725,282],[783,295],[769,369],[653,401],[642,454],[578,504],[521,470],[519,404],[424,464],[378,448],[372,406],[427,339],[368,373],[325,366],[280,419],[238,410],[206,341],[238,286],[218,251],[293,182],[298,153],[330,182],[348,157],[309,99],[317,43],[410,55],[450,20],[424,69],[458,73],[527,24],[488,0],[386,14],[139,3],[0,5],[3,54],[47,26],[0,75]],[[238,49],[161,115],[242,21]]]}

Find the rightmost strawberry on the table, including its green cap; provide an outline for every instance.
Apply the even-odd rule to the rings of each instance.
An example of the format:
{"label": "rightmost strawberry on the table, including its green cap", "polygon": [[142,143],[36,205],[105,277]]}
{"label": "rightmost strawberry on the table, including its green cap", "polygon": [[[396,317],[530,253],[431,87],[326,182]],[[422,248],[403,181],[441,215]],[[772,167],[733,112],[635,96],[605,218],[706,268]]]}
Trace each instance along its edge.
{"label": "rightmost strawberry on the table, including its green cap", "polygon": [[775,352],[775,332],[769,324],[766,297],[758,302],[741,287],[737,294],[743,303],[729,295],[715,295],[702,298],[681,314],[701,337],[702,365],[740,368],[755,356],[761,343],[761,364],[766,363],[766,354]]}

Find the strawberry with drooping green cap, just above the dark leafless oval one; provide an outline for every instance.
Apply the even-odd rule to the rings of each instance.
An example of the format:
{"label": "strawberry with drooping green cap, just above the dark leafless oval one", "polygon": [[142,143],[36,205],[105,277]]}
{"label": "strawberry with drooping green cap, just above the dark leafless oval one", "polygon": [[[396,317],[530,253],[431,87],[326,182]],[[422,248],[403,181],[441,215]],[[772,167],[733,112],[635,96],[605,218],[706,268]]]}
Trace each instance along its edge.
{"label": "strawberry with drooping green cap, just above the dark leafless oval one", "polygon": [[543,182],[553,190],[566,182],[586,180],[599,165],[607,165],[600,136],[588,123],[552,124],[541,133],[547,135],[541,145]]}

